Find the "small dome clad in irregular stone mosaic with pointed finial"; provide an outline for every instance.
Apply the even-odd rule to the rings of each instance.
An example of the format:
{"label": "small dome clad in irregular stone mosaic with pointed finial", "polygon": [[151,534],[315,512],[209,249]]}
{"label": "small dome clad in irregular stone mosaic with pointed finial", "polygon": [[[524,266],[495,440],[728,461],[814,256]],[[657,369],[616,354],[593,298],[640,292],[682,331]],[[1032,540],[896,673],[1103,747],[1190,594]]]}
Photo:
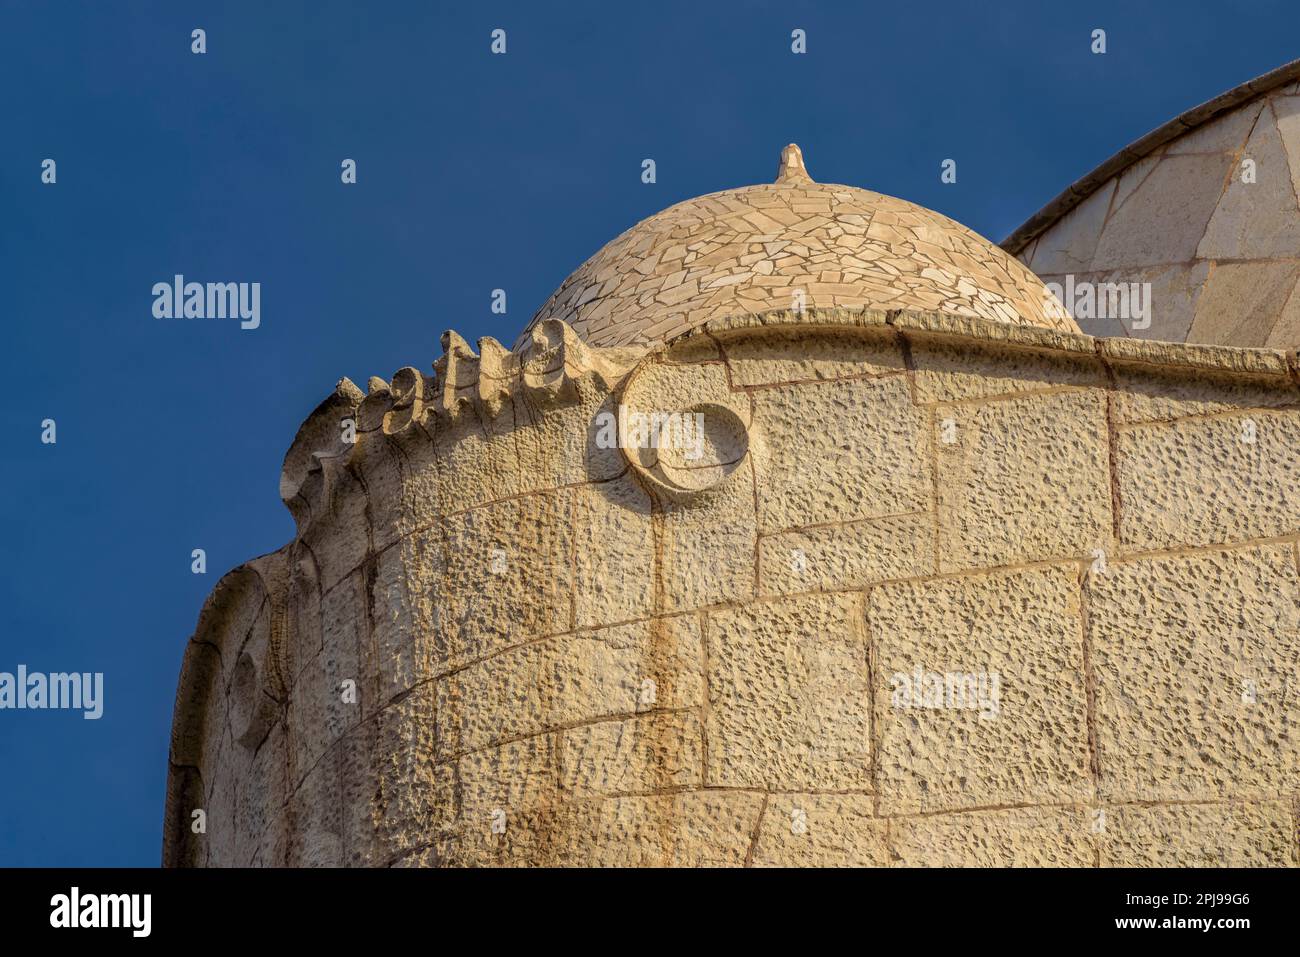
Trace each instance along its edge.
{"label": "small dome clad in irregular stone mosaic with pointed finial", "polygon": [[711,319],[803,307],[933,309],[1078,332],[1027,267],[913,203],[816,183],[794,144],[776,182],[677,203],[569,276],[529,326],[594,346],[662,342]]}

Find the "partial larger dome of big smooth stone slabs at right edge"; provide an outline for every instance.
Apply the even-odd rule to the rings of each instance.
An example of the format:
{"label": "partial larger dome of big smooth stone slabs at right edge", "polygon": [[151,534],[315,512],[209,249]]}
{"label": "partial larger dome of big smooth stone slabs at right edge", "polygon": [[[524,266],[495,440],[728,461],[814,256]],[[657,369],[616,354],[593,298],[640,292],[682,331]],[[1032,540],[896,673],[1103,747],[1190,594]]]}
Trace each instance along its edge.
{"label": "partial larger dome of big smooth stone slabs at right edge", "polygon": [[[1300,346],[1300,60],[1174,117],[1069,186],[1002,243],[1074,298],[1092,335]],[[1066,294],[1070,295],[1069,293]]]}

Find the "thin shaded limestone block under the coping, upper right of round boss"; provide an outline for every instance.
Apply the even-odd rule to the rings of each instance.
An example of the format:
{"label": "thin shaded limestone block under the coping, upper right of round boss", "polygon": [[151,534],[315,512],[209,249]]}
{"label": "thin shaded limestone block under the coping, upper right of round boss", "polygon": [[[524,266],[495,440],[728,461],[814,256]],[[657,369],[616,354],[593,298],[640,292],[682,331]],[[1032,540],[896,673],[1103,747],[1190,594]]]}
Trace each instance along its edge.
{"label": "thin shaded limestone block under the coping, upper right of round boss", "polygon": [[722,342],[732,385],[742,389],[904,369],[902,350],[884,325],[875,330],[754,329]]}

